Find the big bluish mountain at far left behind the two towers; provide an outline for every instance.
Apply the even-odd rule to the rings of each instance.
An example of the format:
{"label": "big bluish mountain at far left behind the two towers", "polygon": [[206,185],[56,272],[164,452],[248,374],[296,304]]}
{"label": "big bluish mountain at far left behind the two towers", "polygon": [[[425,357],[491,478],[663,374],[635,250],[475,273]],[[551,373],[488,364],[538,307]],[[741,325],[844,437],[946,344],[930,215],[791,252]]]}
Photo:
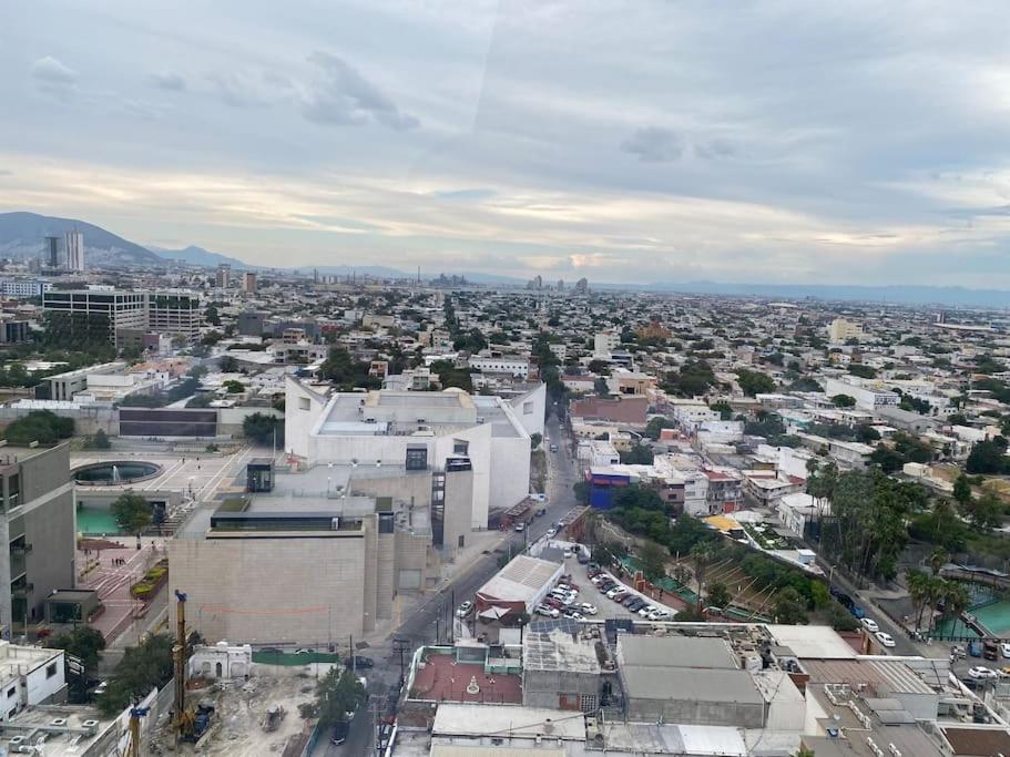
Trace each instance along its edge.
{"label": "big bluish mountain at far left behind the two towers", "polygon": [[162,262],[150,249],[84,221],[23,212],[0,213],[0,256],[41,257],[47,236],[60,237],[62,254],[63,235],[72,231],[84,235],[85,265],[157,265]]}

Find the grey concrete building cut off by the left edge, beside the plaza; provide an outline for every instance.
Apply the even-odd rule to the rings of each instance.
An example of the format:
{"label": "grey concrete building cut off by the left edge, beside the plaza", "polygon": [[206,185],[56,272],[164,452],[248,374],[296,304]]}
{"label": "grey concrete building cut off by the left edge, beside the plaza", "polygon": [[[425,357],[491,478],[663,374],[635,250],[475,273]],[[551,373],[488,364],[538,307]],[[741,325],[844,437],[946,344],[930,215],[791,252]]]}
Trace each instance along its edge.
{"label": "grey concrete building cut off by the left edge, beside the plaza", "polygon": [[74,583],[75,516],[70,446],[0,449],[0,626],[23,630],[45,599]]}

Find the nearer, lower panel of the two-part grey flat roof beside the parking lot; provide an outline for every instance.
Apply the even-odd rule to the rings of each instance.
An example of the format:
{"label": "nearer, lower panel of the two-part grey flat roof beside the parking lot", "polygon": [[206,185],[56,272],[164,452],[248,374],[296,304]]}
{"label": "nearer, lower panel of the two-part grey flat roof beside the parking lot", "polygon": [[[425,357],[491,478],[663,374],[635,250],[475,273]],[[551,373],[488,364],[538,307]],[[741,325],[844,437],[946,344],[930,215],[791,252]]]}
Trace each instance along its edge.
{"label": "nearer, lower panel of the two-part grey flat roof beside the parking lot", "polygon": [[746,671],[690,667],[620,668],[628,697],[632,699],[697,699],[726,704],[764,704]]}

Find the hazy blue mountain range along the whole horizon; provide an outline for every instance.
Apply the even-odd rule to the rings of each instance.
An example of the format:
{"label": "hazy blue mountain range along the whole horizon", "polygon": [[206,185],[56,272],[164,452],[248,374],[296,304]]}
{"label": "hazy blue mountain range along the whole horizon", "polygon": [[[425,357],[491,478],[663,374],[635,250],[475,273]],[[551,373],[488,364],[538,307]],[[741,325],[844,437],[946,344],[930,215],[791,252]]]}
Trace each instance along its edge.
{"label": "hazy blue mountain range along the whole horizon", "polygon": [[[47,236],[63,237],[67,232],[84,234],[86,259],[93,265],[116,267],[124,265],[159,265],[182,260],[191,265],[216,266],[226,263],[236,269],[258,269],[244,260],[220,253],[213,253],[190,245],[182,249],[142,246],[111,232],[75,218],[60,218],[37,213],[0,213],[0,257],[41,257]],[[61,241],[61,249],[63,244]],[[290,266],[289,270],[310,273],[313,269],[327,276],[374,276],[377,278],[414,278],[407,273],[386,266]],[[492,286],[522,286],[527,279],[479,272],[457,273],[475,284]],[[431,273],[424,273],[430,278]],[[957,307],[1006,308],[1010,306],[1010,291],[1002,289],[969,289],[957,286],[914,285],[828,285],[828,284],[726,284],[717,282],[656,282],[646,285],[606,284],[591,282],[594,289],[625,289],[632,291],[711,294],[730,296],[758,296],[773,298],[814,297],[832,300],[857,300],[863,303],[890,303],[900,305],[949,305]]]}

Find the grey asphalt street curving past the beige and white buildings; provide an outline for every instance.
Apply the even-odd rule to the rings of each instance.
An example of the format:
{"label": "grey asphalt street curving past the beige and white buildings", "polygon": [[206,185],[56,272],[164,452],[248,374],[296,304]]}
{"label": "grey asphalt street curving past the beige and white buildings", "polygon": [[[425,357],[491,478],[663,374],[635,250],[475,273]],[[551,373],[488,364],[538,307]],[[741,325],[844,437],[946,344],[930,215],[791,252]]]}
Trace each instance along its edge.
{"label": "grey asphalt street curving past the beige and white buildings", "polygon": [[[466,600],[473,599],[473,594],[488,580],[493,576],[499,567],[498,560],[501,554],[518,554],[527,542],[532,542],[547,533],[559,519],[567,514],[578,502],[575,501],[572,484],[577,480],[577,467],[572,459],[571,443],[557,416],[553,413],[547,420],[547,439],[544,447],[548,450],[548,501],[544,505],[547,514],[533,519],[533,522],[523,533],[510,532],[498,551],[482,554],[477,561],[459,572],[437,594],[433,594],[416,612],[411,613],[394,635],[408,640],[408,652],[405,658],[409,664],[409,656],[414,651],[424,645],[438,641],[446,643],[450,630],[447,624],[453,623],[456,607]],[[558,446],[557,452],[551,452],[552,444]],[[392,651],[392,640],[380,647],[363,651],[361,654],[371,655],[376,666],[364,673],[368,677],[368,694],[375,698],[385,698],[387,693],[395,688],[400,677],[400,656]],[[314,750],[316,757],[360,757],[367,755],[373,744],[373,718],[368,707],[358,710],[350,725],[347,741],[341,746],[329,743],[329,734],[324,734]]]}

